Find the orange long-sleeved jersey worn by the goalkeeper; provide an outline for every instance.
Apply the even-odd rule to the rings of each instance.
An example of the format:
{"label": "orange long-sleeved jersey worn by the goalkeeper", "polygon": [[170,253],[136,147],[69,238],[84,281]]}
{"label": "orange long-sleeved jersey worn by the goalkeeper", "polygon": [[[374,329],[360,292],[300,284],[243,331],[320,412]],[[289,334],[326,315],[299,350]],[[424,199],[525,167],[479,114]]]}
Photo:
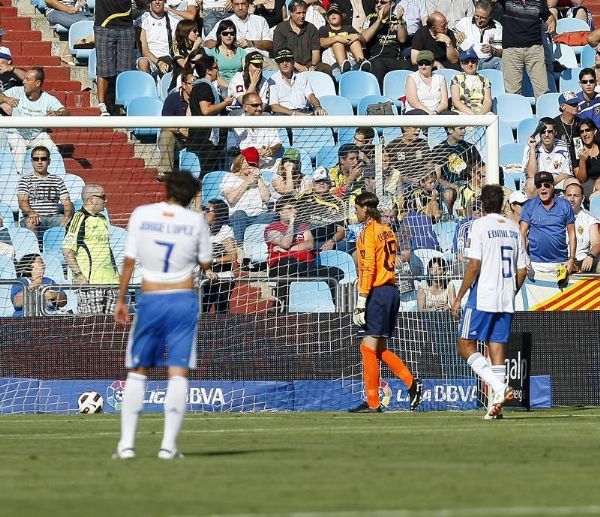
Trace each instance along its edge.
{"label": "orange long-sleeved jersey worn by the goalkeeper", "polygon": [[398,241],[393,230],[371,220],[358,238],[358,292],[367,296],[373,287],[396,283]]}

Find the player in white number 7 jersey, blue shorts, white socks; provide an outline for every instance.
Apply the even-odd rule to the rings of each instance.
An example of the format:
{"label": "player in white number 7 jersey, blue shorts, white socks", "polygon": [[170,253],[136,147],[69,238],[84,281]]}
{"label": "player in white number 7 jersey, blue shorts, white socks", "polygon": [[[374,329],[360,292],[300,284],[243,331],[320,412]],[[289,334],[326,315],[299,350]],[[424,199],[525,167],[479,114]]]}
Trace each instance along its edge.
{"label": "player in white number 7 jersey, blue shorts, white socks", "polygon": [[169,383],[165,397],[165,426],[158,457],[183,456],[177,436],[183,423],[188,393],[188,372],[196,362],[198,298],[193,271],[200,264],[210,269],[210,230],[202,214],[186,208],[200,189],[189,174],[171,174],[166,181],[166,201],[136,208],[129,219],[125,260],[115,308],[115,321],[126,325],[129,310],[127,287],[140,261],[142,295],[129,334],[126,366],[129,368],[121,407],[121,439],[115,459],[135,457],[135,434],[144,407],[150,367],[162,365],[166,348]]}

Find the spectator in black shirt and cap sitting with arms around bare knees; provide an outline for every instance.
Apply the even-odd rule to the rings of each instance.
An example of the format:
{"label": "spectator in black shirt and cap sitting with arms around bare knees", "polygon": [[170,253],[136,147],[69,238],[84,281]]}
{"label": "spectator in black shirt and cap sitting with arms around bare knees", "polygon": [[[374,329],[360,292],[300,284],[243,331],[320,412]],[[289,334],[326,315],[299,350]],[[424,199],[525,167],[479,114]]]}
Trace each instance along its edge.
{"label": "spectator in black shirt and cap sitting with arms around bare knees", "polygon": [[338,4],[327,9],[327,24],[319,28],[319,38],[323,62],[332,66],[334,75],[348,72],[354,65],[359,70],[370,70],[370,64],[363,66],[365,39],[352,25],[344,23],[344,11]]}

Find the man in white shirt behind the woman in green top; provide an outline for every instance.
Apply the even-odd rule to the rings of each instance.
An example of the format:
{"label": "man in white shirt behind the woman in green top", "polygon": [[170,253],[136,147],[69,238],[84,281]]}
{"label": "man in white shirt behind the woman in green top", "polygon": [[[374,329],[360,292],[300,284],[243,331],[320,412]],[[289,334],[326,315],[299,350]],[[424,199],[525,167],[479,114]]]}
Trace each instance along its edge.
{"label": "man in white shirt behind the woman in green top", "polygon": [[[249,14],[248,0],[232,0],[233,14],[227,17],[237,28],[237,45],[246,52],[257,50],[265,58],[273,49],[273,38],[266,20],[262,16]],[[217,44],[217,27],[213,27],[204,41],[204,46],[214,48]],[[272,67],[270,67],[272,68]]]}

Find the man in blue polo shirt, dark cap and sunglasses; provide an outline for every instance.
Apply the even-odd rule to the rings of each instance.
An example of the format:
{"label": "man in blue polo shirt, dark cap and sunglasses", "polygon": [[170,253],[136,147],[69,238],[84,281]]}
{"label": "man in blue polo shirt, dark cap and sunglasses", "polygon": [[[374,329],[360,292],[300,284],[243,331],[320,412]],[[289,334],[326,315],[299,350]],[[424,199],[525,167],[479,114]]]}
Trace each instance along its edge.
{"label": "man in blue polo shirt, dark cap and sunglasses", "polygon": [[531,269],[547,273],[564,264],[572,273],[577,251],[573,208],[569,201],[556,195],[552,173],[538,172],[534,185],[536,195],[523,205],[519,223]]}

